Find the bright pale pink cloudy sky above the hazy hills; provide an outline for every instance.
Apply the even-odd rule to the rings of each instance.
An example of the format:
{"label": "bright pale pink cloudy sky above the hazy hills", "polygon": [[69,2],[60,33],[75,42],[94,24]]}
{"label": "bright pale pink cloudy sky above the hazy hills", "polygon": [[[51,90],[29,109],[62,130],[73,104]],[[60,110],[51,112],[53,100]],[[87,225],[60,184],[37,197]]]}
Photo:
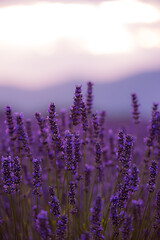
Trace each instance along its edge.
{"label": "bright pale pink cloudy sky above the hazy hills", "polygon": [[159,60],[158,0],[0,1],[0,85],[116,81]]}

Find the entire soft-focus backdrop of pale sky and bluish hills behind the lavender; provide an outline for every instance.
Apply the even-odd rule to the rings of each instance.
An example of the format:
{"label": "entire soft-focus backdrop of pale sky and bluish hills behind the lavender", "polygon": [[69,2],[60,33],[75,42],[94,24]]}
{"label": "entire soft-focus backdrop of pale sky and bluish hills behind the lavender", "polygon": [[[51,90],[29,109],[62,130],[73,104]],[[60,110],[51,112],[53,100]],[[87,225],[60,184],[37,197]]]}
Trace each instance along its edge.
{"label": "entire soft-focus backdrop of pale sky and bluish hills behind the lavender", "polygon": [[73,102],[94,83],[94,107],[108,117],[142,116],[160,101],[159,0],[1,0],[0,108],[33,114]]}

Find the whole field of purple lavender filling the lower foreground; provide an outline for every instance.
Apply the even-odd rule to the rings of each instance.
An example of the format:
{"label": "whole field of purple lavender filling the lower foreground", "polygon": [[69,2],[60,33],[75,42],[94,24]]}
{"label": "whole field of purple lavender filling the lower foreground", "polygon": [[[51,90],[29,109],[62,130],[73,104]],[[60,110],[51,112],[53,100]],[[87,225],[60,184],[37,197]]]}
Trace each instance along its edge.
{"label": "whole field of purple lavender filling the lower foreground", "polygon": [[[71,96],[72,98],[72,96]],[[94,86],[76,86],[70,109],[48,103],[30,119],[0,119],[0,239],[160,239],[160,112],[108,122]],[[153,99],[154,101],[154,99]]]}

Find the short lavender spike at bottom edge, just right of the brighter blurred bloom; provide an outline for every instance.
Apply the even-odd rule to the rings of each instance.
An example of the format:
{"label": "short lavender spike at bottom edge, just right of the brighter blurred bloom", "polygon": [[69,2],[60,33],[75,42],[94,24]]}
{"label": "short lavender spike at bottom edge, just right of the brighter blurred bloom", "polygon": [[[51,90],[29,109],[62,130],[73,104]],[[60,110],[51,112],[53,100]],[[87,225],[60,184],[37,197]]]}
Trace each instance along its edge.
{"label": "short lavender spike at bottom edge, just right of the brighter blurred bloom", "polygon": [[66,237],[68,219],[65,215],[61,215],[57,223],[56,240],[62,240]]}

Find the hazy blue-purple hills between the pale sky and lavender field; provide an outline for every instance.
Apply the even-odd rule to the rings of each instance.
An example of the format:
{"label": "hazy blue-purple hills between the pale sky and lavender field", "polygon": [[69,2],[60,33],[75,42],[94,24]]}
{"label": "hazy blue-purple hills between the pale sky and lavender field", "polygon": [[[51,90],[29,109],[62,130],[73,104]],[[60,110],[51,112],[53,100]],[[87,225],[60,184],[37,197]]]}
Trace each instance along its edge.
{"label": "hazy blue-purple hills between the pale sky and lavender field", "polygon": [[[76,84],[82,84],[86,92],[86,81],[71,81],[50,86],[42,90],[25,90],[0,87],[0,107],[10,104],[14,111],[33,114],[47,111],[49,103],[57,108],[69,108],[73,102]],[[160,102],[160,71],[129,76],[110,83],[94,84],[94,108],[106,110],[109,117],[128,116],[131,113],[131,93],[136,92],[141,104],[142,115],[149,116],[153,102]]]}

